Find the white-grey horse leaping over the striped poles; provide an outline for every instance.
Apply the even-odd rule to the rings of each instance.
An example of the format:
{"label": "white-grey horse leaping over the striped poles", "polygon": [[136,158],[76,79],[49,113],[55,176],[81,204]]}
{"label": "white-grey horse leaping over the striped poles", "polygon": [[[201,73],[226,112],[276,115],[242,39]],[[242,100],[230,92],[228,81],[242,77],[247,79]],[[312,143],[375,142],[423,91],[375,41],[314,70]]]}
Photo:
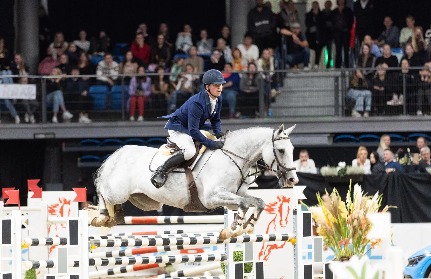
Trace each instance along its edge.
{"label": "white-grey horse leaping over the striped poles", "polygon": [[[253,127],[233,131],[219,139],[225,141],[223,149],[228,153],[224,154],[222,150],[203,153],[193,171],[203,206],[209,210],[227,207],[238,211],[231,226],[220,233],[221,239],[253,232],[265,208],[261,198],[247,194],[249,185],[242,183],[244,180],[238,167],[246,175],[250,167],[263,158],[270,168],[277,168],[281,187],[292,187],[298,182],[293,160],[294,147],[289,137],[295,126],[287,130],[284,130],[283,124],[275,130]],[[95,216],[92,226],[112,227],[122,223],[124,212],[121,205],[127,200],[144,211],[159,210],[163,204],[183,209],[190,203],[184,173],[170,173],[160,189],[151,184],[149,165],[156,152],[158,149],[146,146],[124,146],[103,162],[95,180],[99,206],[89,212]],[[255,209],[244,222],[249,207]]]}

